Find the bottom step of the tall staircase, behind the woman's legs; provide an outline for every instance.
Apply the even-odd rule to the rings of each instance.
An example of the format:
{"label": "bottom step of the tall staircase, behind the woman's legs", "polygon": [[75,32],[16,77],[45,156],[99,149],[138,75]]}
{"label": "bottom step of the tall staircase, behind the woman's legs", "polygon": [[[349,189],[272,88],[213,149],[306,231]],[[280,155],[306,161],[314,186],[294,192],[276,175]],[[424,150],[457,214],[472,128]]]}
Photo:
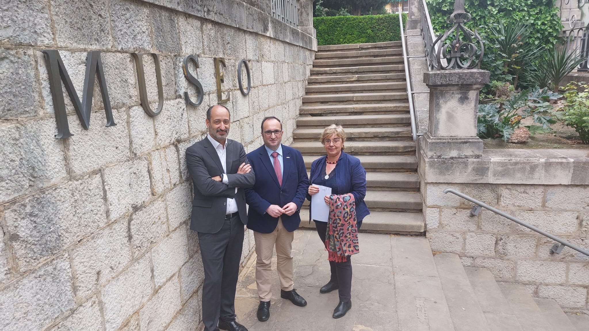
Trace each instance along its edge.
{"label": "bottom step of the tall staircase, behind the woman's legs", "polygon": [[[315,222],[309,223],[309,209],[300,210],[300,227],[315,229]],[[396,233],[399,235],[423,235],[425,222],[422,213],[370,212],[362,220],[361,232]]]}

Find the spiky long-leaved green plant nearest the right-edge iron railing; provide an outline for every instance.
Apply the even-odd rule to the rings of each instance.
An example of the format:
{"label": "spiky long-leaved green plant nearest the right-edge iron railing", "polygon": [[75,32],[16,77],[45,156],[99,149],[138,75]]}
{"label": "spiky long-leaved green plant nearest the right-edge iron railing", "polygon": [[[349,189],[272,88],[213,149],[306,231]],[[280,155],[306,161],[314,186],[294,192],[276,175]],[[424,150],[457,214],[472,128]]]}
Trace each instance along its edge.
{"label": "spiky long-leaved green plant nearest the right-edge iron railing", "polygon": [[[544,52],[535,66],[528,69],[527,79],[542,79],[542,84],[553,91],[560,89],[560,82],[571,71],[577,68],[584,61],[584,56],[569,52],[567,48],[554,48]],[[544,82],[547,81],[547,82]],[[531,81],[529,83],[532,83]]]}

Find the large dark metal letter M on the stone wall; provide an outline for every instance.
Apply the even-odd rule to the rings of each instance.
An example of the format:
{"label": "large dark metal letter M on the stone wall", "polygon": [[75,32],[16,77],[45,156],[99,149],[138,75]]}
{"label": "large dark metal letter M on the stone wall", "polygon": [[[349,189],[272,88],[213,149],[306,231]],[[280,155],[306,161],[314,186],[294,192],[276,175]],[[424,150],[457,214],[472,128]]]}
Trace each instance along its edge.
{"label": "large dark metal letter M on the stone wall", "polygon": [[[104,103],[104,112],[107,117],[106,126],[114,126],[117,123],[112,118],[112,109],[110,99],[108,99],[108,89],[106,79],[104,78],[104,68],[100,51],[88,52],[86,58],[86,74],[84,76],[84,90],[82,91],[82,101],[75,91],[74,84],[65,69],[64,62],[61,60],[59,51],[55,49],[45,49],[41,51],[45,55],[47,73],[49,74],[49,88],[53,99],[53,108],[55,111],[55,121],[57,122],[57,139],[65,139],[73,136],[68,125],[67,112],[65,110],[64,91],[61,88],[61,81],[64,82],[65,91],[70,95],[70,100],[74,104],[74,109],[78,114],[82,127],[86,130],[90,128],[90,112],[92,109],[92,95],[94,95],[94,76],[98,73],[98,86],[102,93],[102,103]],[[61,81],[60,81],[61,76]]]}

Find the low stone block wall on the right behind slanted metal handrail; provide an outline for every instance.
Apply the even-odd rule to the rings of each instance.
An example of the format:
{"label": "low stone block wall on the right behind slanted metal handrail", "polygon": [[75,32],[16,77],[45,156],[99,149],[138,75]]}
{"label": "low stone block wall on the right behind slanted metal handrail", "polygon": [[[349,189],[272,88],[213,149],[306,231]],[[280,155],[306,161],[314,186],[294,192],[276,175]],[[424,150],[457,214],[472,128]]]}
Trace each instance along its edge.
{"label": "low stone block wall on the right behind slanted metal handrail", "polygon": [[427,236],[434,252],[458,254],[465,266],[491,270],[501,282],[527,285],[564,309],[589,309],[589,256],[564,248],[489,210],[470,216],[473,204],[452,188],[584,249],[589,249],[589,185],[422,183]]}

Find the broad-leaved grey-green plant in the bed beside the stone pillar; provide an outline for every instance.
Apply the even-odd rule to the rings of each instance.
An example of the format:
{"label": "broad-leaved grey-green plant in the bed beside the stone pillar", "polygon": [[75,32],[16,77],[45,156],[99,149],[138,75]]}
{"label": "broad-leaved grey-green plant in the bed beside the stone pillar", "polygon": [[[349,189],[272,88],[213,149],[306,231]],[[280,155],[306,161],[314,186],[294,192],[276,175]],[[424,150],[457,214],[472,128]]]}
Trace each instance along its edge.
{"label": "broad-leaved grey-green plant in the bed beside the stone pillar", "polygon": [[532,122],[540,125],[527,125],[530,134],[550,131],[550,124],[556,123],[547,115],[553,109],[548,100],[558,99],[558,93],[547,88],[535,88],[514,93],[510,98],[499,103],[479,105],[477,119],[477,136],[482,139],[502,138],[508,141],[515,129],[521,126],[524,118],[531,117]]}

